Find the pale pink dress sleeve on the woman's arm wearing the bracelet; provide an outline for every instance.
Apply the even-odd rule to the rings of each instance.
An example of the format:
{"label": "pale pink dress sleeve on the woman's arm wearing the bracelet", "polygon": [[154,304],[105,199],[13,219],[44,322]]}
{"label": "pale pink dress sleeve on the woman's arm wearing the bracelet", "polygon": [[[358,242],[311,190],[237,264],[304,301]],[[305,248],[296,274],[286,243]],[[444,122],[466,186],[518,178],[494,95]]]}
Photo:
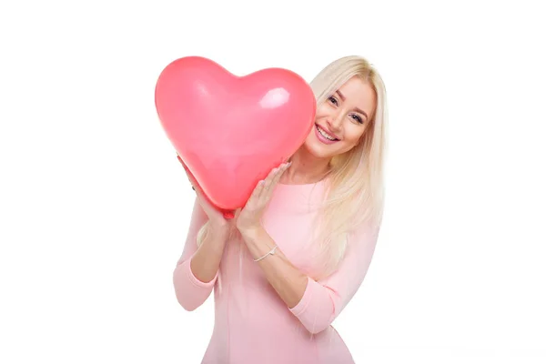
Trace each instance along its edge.
{"label": "pale pink dress sleeve on the woman's arm wearing the bracelet", "polygon": [[309,332],[327,329],[359,289],[373,256],[379,228],[362,227],[349,236],[347,254],[328,278],[308,285],[298,304],[289,308]]}

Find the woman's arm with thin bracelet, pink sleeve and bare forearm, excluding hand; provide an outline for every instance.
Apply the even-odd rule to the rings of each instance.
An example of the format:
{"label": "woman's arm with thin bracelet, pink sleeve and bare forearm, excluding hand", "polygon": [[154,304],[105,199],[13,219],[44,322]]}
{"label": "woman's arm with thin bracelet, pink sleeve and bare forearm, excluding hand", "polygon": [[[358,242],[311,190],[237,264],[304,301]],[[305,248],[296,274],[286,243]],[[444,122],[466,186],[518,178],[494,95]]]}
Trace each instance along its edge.
{"label": "woman's arm with thin bracelet, pink sleeve and bare forearm, excluding hand", "polygon": [[[263,227],[241,232],[254,258],[268,253],[275,242]],[[364,280],[376,247],[379,228],[362,227],[349,237],[349,247],[339,268],[328,278],[316,281],[290,264],[277,249],[258,265],[288,309],[309,332],[327,329]]]}

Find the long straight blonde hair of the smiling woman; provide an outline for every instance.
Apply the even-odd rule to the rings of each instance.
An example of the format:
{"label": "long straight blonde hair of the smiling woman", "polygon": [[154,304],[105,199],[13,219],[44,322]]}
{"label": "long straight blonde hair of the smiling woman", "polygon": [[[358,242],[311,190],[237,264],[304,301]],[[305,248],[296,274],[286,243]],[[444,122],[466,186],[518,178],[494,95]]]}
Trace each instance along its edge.
{"label": "long straight blonde hair of the smiling woman", "polygon": [[[336,89],[359,76],[368,81],[376,94],[376,108],[369,118],[362,139],[343,155],[333,157],[325,200],[320,208],[317,242],[319,274],[328,277],[339,266],[348,248],[349,234],[366,224],[379,228],[383,215],[383,165],[386,148],[386,89],[378,71],[360,56],[345,56],[330,63],[311,82],[317,104]],[[206,238],[208,224],[197,233],[197,246]],[[237,236],[232,231],[230,238]],[[240,250],[242,254],[242,249]]]}

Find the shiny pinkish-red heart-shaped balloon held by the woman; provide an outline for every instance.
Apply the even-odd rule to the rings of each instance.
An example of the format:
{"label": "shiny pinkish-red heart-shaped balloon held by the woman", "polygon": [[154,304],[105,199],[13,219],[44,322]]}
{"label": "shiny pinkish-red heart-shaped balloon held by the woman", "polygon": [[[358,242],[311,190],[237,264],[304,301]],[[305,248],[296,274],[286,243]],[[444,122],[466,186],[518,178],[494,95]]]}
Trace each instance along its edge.
{"label": "shiny pinkish-red heart-shaped balloon held by the woman", "polygon": [[287,69],[234,76],[207,58],[187,56],[159,76],[156,108],[209,201],[235,210],[304,143],[316,99],[308,83]]}

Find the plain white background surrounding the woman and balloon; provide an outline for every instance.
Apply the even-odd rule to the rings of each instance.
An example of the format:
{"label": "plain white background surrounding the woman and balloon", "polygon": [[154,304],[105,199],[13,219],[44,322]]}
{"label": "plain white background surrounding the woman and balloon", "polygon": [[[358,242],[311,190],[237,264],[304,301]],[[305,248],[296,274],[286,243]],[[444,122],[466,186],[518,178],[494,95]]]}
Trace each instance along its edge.
{"label": "plain white background surrounding the woman and balloon", "polygon": [[534,3],[3,2],[0,362],[200,362],[213,301],[172,287],[194,195],[157,76],[197,55],[310,81],[357,54],[388,89],[388,200],[334,327],[358,363],[544,363]]}

